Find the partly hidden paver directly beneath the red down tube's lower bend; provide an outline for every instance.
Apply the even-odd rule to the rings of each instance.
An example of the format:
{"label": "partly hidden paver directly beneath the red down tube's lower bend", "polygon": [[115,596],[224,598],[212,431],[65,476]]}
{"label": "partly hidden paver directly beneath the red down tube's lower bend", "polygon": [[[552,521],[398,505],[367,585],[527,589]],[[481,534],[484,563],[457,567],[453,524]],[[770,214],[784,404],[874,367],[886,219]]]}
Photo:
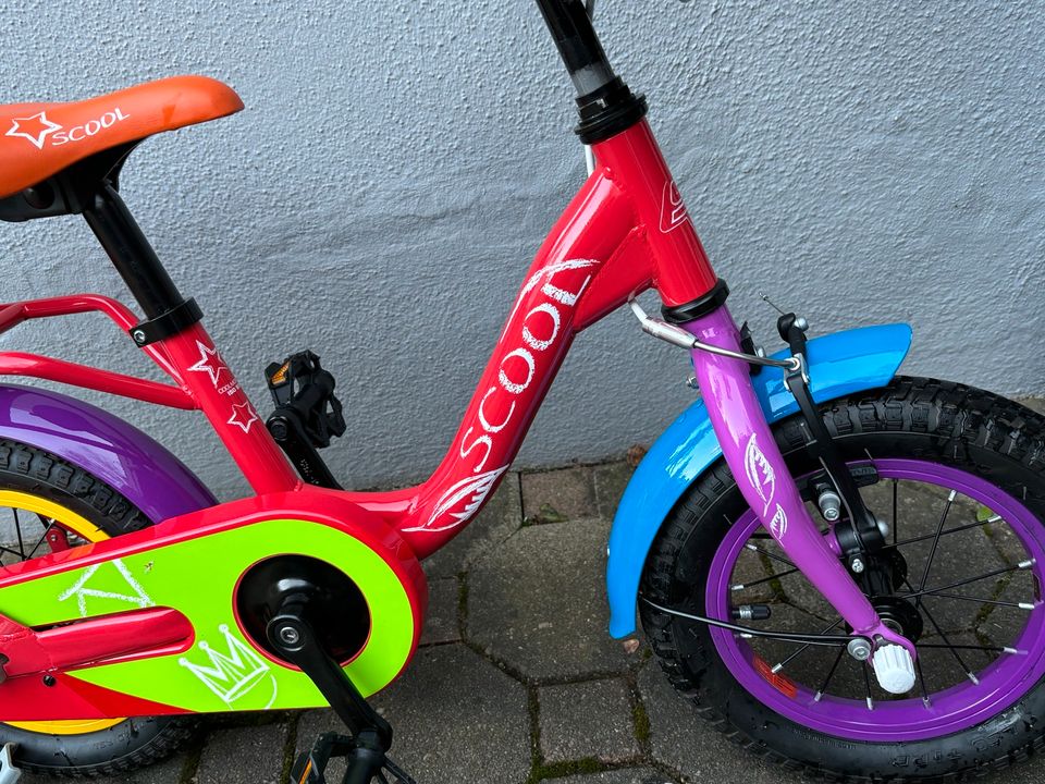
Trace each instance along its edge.
{"label": "partly hidden paver directly beneath the red down tube's lower bend", "polygon": [[496,492],[462,534],[425,561],[425,573],[453,577],[468,568],[482,553],[494,550],[522,525],[519,475],[508,474]]}

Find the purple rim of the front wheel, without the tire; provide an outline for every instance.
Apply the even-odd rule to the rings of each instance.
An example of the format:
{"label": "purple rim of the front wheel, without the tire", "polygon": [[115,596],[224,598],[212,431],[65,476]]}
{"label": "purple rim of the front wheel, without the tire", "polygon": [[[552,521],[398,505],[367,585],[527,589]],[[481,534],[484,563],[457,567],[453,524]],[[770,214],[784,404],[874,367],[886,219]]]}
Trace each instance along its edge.
{"label": "purple rim of the front wheel, without the tire", "polygon": [[[1019,501],[989,482],[967,471],[936,463],[911,460],[876,460],[872,463],[883,479],[906,479],[957,490],[1001,516],[1029,556],[1042,584],[1045,565],[1045,529]],[[730,575],[751,534],[759,527],[750,510],[738,519],[718,547],[711,565],[705,595],[711,615],[730,618]],[[1019,700],[1045,674],[1045,609],[1042,603],[1028,615],[1026,624],[1012,647],[1026,653],[1003,653],[978,675],[979,684],[964,682],[932,695],[930,707],[920,696],[880,702],[873,711],[863,701],[815,693],[796,684],[789,697],[771,686],[752,662],[754,652],[745,641],[725,629],[710,629],[726,667],[737,682],[760,702],[783,716],[811,730],[853,740],[897,743],[939,737],[974,726],[997,715]]]}

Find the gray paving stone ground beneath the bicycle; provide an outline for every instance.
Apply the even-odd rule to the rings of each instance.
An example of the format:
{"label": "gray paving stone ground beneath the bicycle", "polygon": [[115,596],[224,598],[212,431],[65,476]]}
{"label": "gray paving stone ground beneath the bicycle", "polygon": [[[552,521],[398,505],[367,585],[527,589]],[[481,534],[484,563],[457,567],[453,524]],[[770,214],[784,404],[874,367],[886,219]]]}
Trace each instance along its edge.
{"label": "gray paving stone ground beneath the bicycle", "polygon": [[[762,762],[698,720],[644,641],[607,636],[606,536],[638,456],[509,475],[480,518],[426,563],[431,605],[421,649],[374,698],[395,726],[393,758],[418,784],[810,781]],[[910,503],[907,518],[926,525],[938,518],[939,499]],[[993,548],[992,558],[1007,563],[1012,543],[997,532],[989,539],[966,547]],[[757,583],[746,589],[749,600],[765,602],[783,622],[823,623],[829,608],[801,579],[769,578],[783,569],[773,547],[738,563],[735,577]],[[934,576],[948,579],[960,565],[942,558]],[[943,610],[939,617],[949,623]],[[839,683],[848,677],[859,687],[858,672]],[[97,782],[287,784],[293,756],[340,728],[329,710],[223,718],[180,757]],[[340,784],[337,772],[331,770],[331,784]],[[1031,761],[984,781],[1029,784],[1043,773],[1045,762]],[[45,781],[26,774],[22,784]]]}

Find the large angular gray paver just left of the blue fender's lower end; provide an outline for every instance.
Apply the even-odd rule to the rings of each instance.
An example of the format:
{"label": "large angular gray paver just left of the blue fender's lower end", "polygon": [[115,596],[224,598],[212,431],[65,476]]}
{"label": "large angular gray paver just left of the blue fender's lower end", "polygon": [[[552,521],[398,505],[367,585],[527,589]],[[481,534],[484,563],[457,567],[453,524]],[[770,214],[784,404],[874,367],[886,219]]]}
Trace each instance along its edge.
{"label": "large angular gray paver just left of the blue fender's lower end", "polygon": [[606,537],[595,522],[522,528],[468,575],[465,639],[532,681],[625,671],[606,633]]}

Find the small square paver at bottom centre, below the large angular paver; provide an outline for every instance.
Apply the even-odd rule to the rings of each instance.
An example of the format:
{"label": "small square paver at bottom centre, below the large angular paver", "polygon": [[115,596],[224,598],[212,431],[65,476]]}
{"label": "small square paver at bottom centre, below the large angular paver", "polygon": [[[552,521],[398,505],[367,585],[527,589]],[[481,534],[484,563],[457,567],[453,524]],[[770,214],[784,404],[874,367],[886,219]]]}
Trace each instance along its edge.
{"label": "small square paver at bottom centre, below the large angular paver", "polygon": [[537,694],[545,762],[622,762],[639,756],[631,690],[623,678],[545,686]]}

